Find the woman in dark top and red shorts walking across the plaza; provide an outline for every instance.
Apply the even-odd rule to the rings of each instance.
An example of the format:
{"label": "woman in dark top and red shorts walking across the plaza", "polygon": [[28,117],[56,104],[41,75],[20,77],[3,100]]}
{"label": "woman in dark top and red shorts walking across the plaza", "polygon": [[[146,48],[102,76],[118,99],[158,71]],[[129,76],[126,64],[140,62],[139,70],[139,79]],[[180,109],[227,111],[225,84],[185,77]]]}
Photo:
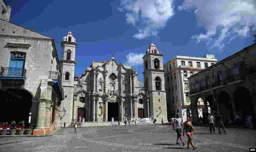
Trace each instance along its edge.
{"label": "woman in dark top and red shorts walking across the plaza", "polygon": [[[194,129],[192,122],[190,121],[190,119],[188,118],[187,121],[184,122],[184,128],[183,128],[183,136],[184,136],[184,132],[186,132],[186,135],[188,137],[188,145],[187,148],[189,148],[189,145],[191,144],[191,146],[193,147],[193,150],[196,149],[196,147],[194,146],[193,142],[192,142],[192,132],[195,132],[196,134],[196,130]],[[189,148],[190,149],[190,148]]]}

